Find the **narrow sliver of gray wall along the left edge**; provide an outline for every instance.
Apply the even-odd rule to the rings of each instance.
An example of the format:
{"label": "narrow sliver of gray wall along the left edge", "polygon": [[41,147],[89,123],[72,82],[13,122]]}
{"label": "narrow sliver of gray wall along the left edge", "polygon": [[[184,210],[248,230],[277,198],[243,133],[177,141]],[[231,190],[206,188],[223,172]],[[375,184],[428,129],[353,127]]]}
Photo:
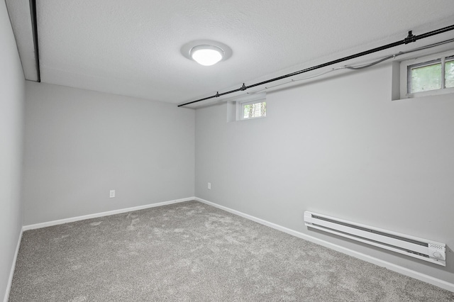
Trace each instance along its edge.
{"label": "narrow sliver of gray wall along the left edge", "polygon": [[24,78],[5,1],[0,1],[0,299],[21,234]]}

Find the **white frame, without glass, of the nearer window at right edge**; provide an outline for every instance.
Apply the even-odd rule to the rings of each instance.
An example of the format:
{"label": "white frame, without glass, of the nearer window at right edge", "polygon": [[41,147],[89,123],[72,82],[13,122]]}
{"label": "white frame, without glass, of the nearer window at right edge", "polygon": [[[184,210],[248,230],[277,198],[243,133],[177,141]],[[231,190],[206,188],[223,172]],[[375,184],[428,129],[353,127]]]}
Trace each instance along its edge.
{"label": "white frame, without glass, of the nearer window at right edge", "polygon": [[[423,57],[416,57],[411,60],[405,60],[400,63],[400,96],[401,99],[411,99],[421,96],[434,96],[440,94],[452,94],[454,93],[454,87],[445,86],[445,58],[453,57],[454,50],[445,52],[438,52],[432,55],[426,55]],[[439,60],[441,63],[441,88],[433,89],[428,91],[419,91],[409,93],[411,87],[411,67],[423,67],[426,65],[433,65]],[[451,60],[448,60],[448,62]],[[415,66],[416,65],[416,66]]]}

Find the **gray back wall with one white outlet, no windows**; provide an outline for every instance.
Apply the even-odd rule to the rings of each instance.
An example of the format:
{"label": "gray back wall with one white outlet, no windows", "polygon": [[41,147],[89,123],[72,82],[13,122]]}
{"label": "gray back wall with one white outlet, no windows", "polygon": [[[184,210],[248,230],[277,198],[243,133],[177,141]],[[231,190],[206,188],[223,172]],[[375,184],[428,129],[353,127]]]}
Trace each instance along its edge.
{"label": "gray back wall with one white outlet, no windows", "polygon": [[26,82],[24,225],[194,196],[194,116]]}

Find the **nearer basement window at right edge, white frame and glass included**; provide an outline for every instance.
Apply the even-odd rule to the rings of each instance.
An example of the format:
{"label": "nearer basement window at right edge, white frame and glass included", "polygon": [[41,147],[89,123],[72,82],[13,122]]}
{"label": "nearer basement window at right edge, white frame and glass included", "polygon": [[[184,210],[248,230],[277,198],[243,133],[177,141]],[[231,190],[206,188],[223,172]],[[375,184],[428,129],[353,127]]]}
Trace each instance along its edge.
{"label": "nearer basement window at right edge, white frame and glass included", "polygon": [[452,50],[401,63],[402,99],[453,92],[454,52]]}

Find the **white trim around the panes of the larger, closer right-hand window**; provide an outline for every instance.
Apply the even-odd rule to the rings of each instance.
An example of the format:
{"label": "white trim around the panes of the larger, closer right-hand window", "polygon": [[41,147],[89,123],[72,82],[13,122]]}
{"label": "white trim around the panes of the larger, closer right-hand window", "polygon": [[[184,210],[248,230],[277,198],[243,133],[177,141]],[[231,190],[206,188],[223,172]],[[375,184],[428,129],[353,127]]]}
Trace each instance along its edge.
{"label": "white trim around the panes of the larger, closer right-hand window", "polygon": [[[445,80],[444,80],[444,63],[445,63],[445,57],[450,57],[454,55],[454,50],[449,50],[445,52],[438,52],[433,55],[426,55],[424,57],[416,57],[411,60],[405,60],[400,63],[400,99],[411,99],[411,98],[418,98],[421,96],[436,96],[440,94],[453,94],[454,93],[454,87],[450,88],[445,88]],[[442,63],[442,76],[443,76],[443,82],[442,82],[442,88],[441,89],[434,89],[434,90],[429,90],[429,91],[421,91],[421,92],[415,92],[413,94],[408,93],[408,86],[409,86],[409,77],[408,77],[408,67],[411,65],[416,65],[420,64],[423,62],[428,62],[431,60],[438,60],[441,59]]]}

